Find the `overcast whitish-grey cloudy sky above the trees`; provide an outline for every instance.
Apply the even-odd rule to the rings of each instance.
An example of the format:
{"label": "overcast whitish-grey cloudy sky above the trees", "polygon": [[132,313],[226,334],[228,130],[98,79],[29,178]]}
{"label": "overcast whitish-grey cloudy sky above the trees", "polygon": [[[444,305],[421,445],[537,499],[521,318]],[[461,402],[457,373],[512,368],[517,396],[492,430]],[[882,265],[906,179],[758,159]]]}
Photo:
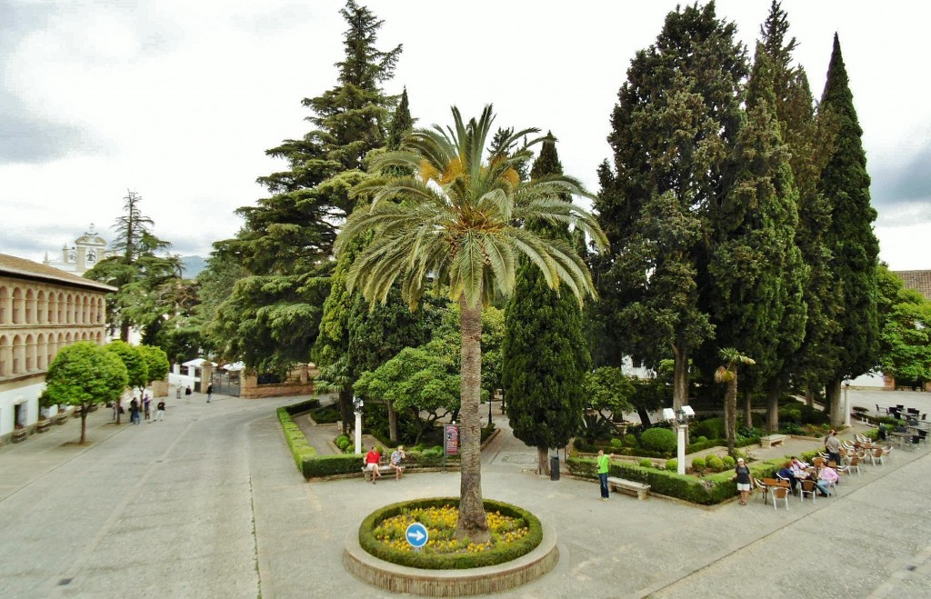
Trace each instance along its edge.
{"label": "overcast whitish-grey cloudy sky above the trees", "polygon": [[[596,167],[634,52],[675,1],[364,0],[404,51],[419,125],[478,114],[560,139],[565,171],[597,191]],[[769,0],[719,0],[752,49]],[[239,206],[264,197],[264,155],[309,125],[301,100],[336,82],[339,0],[0,0],[0,253],[41,261],[84,233],[108,240],[127,191],[155,234],[206,257]],[[864,129],[881,259],[931,268],[931,6],[783,0],[796,59],[820,97],[840,34]]]}

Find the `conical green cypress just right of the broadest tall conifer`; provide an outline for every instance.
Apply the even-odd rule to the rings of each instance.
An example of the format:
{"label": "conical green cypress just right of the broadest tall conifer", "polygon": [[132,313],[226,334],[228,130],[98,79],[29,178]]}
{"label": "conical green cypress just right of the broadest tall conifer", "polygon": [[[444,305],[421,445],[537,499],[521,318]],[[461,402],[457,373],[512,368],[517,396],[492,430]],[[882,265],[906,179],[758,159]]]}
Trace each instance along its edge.
{"label": "conical green cypress just right of the broadest tall conifer", "polygon": [[760,365],[745,385],[747,421],[752,422],[750,393],[754,387],[764,389],[769,428],[776,431],[787,358],[804,336],[807,269],[795,245],[798,192],[774,110],[773,76],[769,55],[759,44],[728,191],[713,211],[708,305],[717,342],[752,353]]}

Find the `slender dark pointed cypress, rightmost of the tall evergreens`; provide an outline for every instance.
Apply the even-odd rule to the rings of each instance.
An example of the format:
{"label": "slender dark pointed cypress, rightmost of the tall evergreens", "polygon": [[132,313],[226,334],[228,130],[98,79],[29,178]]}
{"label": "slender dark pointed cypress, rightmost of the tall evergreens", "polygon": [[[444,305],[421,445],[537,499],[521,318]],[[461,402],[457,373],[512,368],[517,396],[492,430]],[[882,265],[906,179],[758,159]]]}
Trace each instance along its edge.
{"label": "slender dark pointed cypress, rightmost of the tall evergreens", "polygon": [[867,372],[877,362],[879,241],[872,230],[876,210],[870,206],[870,175],[861,140],[863,129],[857,120],[841,42],[836,33],[821,110],[830,114],[837,126],[833,153],[821,173],[818,189],[831,206],[826,239],[832,254],[830,268],[838,298],[833,314],[838,331],[826,348],[831,363],[836,364],[826,381],[826,394],[831,423],[840,425],[843,423],[841,381]]}

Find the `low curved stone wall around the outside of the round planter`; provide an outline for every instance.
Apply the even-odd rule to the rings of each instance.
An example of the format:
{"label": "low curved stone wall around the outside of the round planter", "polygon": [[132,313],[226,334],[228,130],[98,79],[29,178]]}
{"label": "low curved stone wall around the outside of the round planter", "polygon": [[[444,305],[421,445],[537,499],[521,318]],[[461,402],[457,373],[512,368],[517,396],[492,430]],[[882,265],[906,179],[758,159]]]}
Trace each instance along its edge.
{"label": "low curved stone wall around the outside of the round planter", "polygon": [[519,587],[545,575],[556,566],[560,552],[556,532],[545,522],[543,540],[532,552],[497,566],[466,570],[425,570],[385,562],[362,549],[358,531],[346,535],[343,565],[356,578],[391,592],[431,597],[489,594]]}

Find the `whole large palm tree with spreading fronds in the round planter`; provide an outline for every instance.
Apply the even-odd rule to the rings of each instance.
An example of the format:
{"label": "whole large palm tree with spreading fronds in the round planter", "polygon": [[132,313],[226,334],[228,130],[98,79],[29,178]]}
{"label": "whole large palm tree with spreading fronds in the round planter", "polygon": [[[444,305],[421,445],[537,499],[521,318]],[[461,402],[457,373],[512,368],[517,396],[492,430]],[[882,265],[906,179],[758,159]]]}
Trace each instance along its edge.
{"label": "whole large palm tree with spreading fronds in the round planter", "polygon": [[[563,175],[520,180],[519,166],[533,156],[530,147],[543,141],[526,141],[538,129],[511,133],[482,161],[492,106],[478,121],[464,123],[455,107],[452,117],[452,127],[416,129],[398,152],[372,158],[372,171],[383,174],[356,189],[371,195],[371,205],[350,215],[335,248],[343,251],[359,235],[375,233],[346,282],[371,302],[384,302],[396,281],[412,309],[431,281],[438,290],[448,286],[450,299],[459,302],[462,468],[456,536],[481,542],[489,539],[479,456],[482,304],[512,291],[521,254],[540,268],[552,288],[565,285],[580,303],[585,295],[595,296],[591,275],[573,247],[523,228],[528,220],[575,225],[602,248],[607,238],[590,214],[566,199],[591,197],[579,181]],[[514,147],[519,149],[508,153]],[[388,166],[406,167],[412,174],[391,175],[404,171]]]}

